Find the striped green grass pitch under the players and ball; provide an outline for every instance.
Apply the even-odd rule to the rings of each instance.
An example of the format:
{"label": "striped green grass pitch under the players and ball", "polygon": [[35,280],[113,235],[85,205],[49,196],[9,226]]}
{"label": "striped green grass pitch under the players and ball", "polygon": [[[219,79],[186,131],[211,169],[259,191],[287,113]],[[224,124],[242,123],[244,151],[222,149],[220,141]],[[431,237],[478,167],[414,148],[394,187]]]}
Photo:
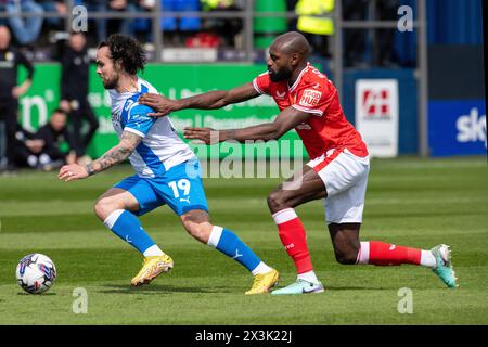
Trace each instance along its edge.
{"label": "striped green grass pitch under the players and ball", "polygon": [[[460,287],[448,290],[431,270],[342,266],[333,256],[322,202],[297,208],[316,271],[317,295],[245,296],[247,271],[200,244],[168,207],[142,218],[175,259],[169,274],[132,288],[141,256],[93,214],[97,197],[132,175],[116,167],[85,181],[61,182],[54,172],[0,176],[0,324],[487,324],[488,167],[486,158],[374,159],[362,240],[431,248],[452,247]],[[205,179],[213,221],[235,231],[295,280],[268,213],[279,179]],[[43,295],[24,294],[15,266],[28,253],[51,257],[59,271]],[[73,312],[74,290],[88,294],[88,312]],[[413,312],[400,314],[400,288],[412,292]]]}

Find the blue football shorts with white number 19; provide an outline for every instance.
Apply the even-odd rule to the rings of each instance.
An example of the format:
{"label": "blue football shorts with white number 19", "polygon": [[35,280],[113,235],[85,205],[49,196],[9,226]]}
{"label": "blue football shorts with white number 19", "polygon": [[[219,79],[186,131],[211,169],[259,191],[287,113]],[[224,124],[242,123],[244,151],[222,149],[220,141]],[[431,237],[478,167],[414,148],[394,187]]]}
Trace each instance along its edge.
{"label": "blue football shorts with white number 19", "polygon": [[140,207],[133,213],[137,216],[142,216],[166,204],[178,216],[192,209],[208,211],[198,160],[181,163],[155,178],[130,176],[114,188],[126,190],[136,197]]}

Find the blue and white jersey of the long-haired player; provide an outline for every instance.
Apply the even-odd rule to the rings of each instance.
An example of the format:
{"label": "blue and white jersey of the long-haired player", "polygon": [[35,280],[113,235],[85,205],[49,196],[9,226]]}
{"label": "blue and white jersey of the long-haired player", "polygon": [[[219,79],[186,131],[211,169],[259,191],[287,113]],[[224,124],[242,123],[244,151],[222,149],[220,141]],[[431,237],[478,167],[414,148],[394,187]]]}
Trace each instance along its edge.
{"label": "blue and white jersey of the long-haired player", "polygon": [[153,108],[139,104],[141,94],[157,93],[157,90],[142,78],[138,79],[138,90],[125,93],[108,90],[112,98],[112,124],[119,138],[123,131],[143,138],[129,160],[140,177],[154,178],[195,155],[178,137],[168,116],[149,117]]}

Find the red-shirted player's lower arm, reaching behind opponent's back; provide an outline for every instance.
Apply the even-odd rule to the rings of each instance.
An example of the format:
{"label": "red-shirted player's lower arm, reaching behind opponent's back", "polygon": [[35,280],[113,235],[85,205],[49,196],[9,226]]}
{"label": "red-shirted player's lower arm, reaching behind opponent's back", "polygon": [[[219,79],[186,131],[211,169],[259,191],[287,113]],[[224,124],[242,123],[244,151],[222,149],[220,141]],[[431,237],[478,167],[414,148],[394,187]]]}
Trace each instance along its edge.
{"label": "red-shirted player's lower arm, reaching behind opponent's back", "polygon": [[206,144],[216,144],[228,140],[237,142],[245,142],[248,140],[278,140],[285,132],[307,120],[308,117],[310,117],[309,113],[305,113],[293,107],[287,107],[283,110],[272,123],[230,130],[187,127],[184,128],[183,133],[185,139],[201,140]]}

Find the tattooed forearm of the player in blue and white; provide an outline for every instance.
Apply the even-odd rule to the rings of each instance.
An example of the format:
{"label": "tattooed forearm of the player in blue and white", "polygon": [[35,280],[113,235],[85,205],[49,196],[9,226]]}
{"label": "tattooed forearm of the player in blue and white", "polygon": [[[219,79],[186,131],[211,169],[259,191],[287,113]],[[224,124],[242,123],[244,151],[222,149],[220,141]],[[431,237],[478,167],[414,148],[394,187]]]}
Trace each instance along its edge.
{"label": "tattooed forearm of the player in blue and white", "polygon": [[139,145],[141,140],[142,138],[140,136],[129,131],[124,131],[120,137],[120,142],[116,146],[108,150],[101,158],[87,165],[88,176],[106,170],[107,168],[127,159]]}

